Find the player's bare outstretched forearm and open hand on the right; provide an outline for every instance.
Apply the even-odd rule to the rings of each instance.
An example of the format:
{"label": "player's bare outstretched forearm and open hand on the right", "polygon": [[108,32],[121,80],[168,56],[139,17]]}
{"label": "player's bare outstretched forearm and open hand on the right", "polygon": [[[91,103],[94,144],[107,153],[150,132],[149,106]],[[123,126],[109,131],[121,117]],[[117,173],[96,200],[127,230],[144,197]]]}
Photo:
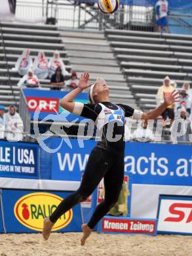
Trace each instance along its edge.
{"label": "player's bare outstretched forearm and open hand on the right", "polygon": [[174,102],[178,102],[179,101],[178,98],[180,98],[180,96],[178,96],[178,91],[176,91],[176,90],[172,91],[170,96],[168,96],[168,97],[164,96],[163,104],[161,104],[154,110],[151,110],[150,112],[142,114],[142,119],[147,120],[147,119],[157,118],[164,112],[164,110],[167,108],[167,106],[174,104]]}

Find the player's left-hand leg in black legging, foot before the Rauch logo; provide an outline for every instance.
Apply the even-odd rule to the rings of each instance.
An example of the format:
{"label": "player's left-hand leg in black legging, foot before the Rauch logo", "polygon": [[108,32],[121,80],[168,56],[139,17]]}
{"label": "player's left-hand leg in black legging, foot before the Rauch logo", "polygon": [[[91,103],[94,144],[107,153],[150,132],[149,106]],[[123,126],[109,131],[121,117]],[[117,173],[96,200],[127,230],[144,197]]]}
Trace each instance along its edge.
{"label": "player's left-hand leg in black legging, foot before the Rauch logo", "polygon": [[104,177],[109,165],[106,165],[109,159],[109,153],[104,152],[101,148],[94,148],[88,158],[85,173],[79,189],[65,198],[50,215],[49,219],[44,220],[43,237],[47,240],[54,223],[69,211],[77,203],[81,203],[92,194],[96,186]]}

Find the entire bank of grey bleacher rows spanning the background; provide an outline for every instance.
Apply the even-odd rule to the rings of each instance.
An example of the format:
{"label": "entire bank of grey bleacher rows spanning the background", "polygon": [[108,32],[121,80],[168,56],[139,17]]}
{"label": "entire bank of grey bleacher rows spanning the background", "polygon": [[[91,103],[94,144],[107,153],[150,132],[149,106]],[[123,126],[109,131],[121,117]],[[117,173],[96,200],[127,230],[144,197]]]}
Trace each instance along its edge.
{"label": "entire bank of grey bleacher rows spanning the background", "polygon": [[[78,76],[88,70],[90,83],[96,77],[104,77],[111,91],[113,102],[130,104],[142,110],[155,106],[157,89],[163,78],[169,75],[178,86],[191,81],[191,35],[160,34],[128,30],[85,32],[84,30],[60,30],[56,26],[10,24],[3,22],[7,62],[0,47],[0,104],[8,106],[19,100],[16,86],[20,77],[12,68],[24,48],[31,49],[31,57],[44,51],[50,58],[55,50],[69,72]],[[2,39],[1,39],[2,40]],[[40,81],[47,89],[48,79]],[[10,102],[7,101],[7,95]]]}

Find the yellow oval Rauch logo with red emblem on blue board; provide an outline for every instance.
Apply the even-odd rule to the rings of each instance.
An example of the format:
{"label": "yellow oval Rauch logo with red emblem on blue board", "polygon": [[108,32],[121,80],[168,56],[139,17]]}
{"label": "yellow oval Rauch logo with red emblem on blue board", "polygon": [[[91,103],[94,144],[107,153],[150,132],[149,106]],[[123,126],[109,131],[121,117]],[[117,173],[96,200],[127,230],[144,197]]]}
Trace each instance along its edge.
{"label": "yellow oval Rauch logo with red emblem on blue board", "polygon": [[[15,203],[14,215],[24,226],[41,231],[43,229],[43,219],[49,217],[62,200],[63,198],[60,198],[60,196],[50,193],[27,194]],[[71,222],[72,217],[73,211],[70,209],[58,219],[52,230],[64,228]]]}

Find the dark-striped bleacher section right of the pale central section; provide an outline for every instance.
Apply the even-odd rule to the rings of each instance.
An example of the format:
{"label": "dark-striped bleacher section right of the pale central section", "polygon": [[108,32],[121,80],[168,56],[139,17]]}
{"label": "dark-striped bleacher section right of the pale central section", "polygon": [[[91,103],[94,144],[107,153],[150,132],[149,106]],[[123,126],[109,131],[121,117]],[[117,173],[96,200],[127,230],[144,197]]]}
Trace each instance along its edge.
{"label": "dark-striped bleacher section right of the pale central section", "polygon": [[105,34],[142,110],[156,106],[157,90],[166,75],[178,87],[191,81],[191,35],[127,30],[106,30]]}

